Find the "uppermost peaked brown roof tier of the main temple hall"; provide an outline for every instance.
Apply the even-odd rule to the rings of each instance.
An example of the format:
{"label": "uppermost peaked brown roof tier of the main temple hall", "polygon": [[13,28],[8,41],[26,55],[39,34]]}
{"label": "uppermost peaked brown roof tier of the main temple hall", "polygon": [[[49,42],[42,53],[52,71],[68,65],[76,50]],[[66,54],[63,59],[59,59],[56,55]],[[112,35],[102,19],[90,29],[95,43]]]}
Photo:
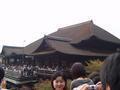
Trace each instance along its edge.
{"label": "uppermost peaked brown roof tier of the main temple hall", "polygon": [[54,32],[50,35],[70,38],[72,39],[71,43],[79,43],[80,41],[86,40],[92,36],[96,36],[105,41],[120,43],[120,39],[93,24],[92,21],[60,28],[57,32]]}

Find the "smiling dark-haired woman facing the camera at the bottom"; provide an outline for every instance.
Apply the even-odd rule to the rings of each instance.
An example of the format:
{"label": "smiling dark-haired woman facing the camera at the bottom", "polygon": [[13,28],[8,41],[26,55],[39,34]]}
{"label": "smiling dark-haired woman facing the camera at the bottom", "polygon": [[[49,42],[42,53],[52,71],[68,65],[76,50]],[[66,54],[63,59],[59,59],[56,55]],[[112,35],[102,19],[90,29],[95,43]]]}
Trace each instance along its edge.
{"label": "smiling dark-haired woman facing the camera at the bottom", "polygon": [[67,78],[63,72],[58,71],[52,75],[51,86],[53,90],[67,90]]}

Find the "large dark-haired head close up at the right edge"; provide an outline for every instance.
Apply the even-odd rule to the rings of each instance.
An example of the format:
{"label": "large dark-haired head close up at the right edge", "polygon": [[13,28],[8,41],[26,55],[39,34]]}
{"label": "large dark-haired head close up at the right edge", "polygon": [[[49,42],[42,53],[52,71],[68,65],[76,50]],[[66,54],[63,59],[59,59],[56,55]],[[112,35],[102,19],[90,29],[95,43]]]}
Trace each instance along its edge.
{"label": "large dark-haired head close up at the right edge", "polygon": [[106,90],[106,85],[110,86],[111,90],[120,89],[120,53],[114,53],[108,56],[101,68],[101,82],[103,90]]}

